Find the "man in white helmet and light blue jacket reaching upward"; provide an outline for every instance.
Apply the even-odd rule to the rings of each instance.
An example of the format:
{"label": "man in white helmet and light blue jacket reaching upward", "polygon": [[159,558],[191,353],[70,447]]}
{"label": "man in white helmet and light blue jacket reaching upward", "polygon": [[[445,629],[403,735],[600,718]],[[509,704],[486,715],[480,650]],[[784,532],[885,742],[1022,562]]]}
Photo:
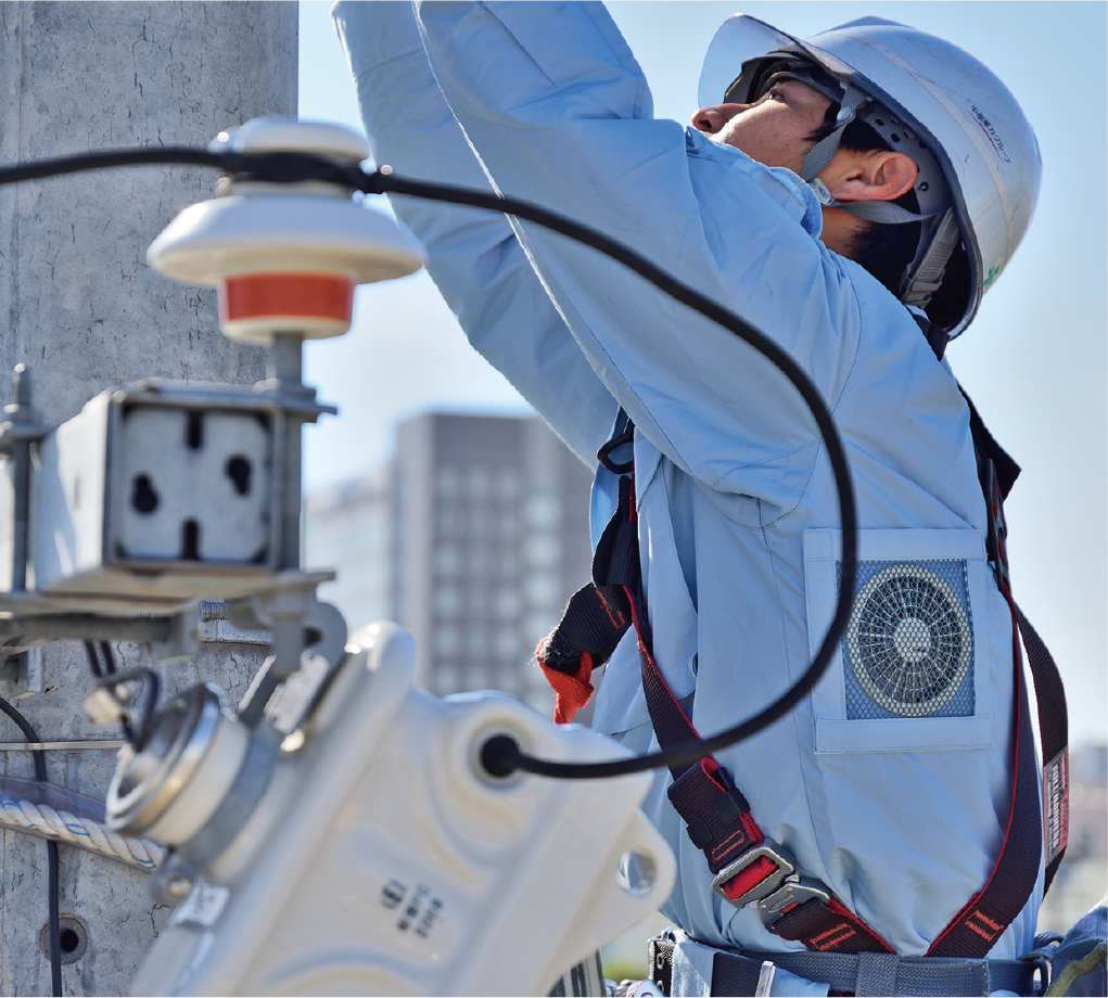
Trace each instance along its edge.
{"label": "man in white helmet and light blue jacket reaching upward", "polygon": [[[1034,946],[1040,814],[1033,788],[1034,813],[1009,822],[1017,735],[1032,750],[983,447],[1002,479],[1012,467],[944,352],[1034,212],[1038,148],[1014,97],[904,25],[801,41],[736,17],[685,127],[653,117],[599,0],[339,0],[334,17],[378,163],[491,184],[633,246],[784,348],[844,439],[861,529],[842,650],[792,713],[691,773],[757,847],[725,855],[716,819],[675,810],[670,772],[644,805],[679,867],[663,989],[1030,994],[1030,965],[1013,961]],[[707,734],[777,698],[827,630],[841,569],[833,476],[794,389],[592,249],[486,212],[392,204],[473,347],[597,469],[594,542],[624,481],[638,636],[680,711]],[[659,734],[632,630],[593,724],[643,752]],[[589,677],[573,679],[587,693]],[[560,693],[566,719],[574,689]],[[991,915],[975,899],[1008,884],[1010,867],[994,871],[1024,831],[1024,886]],[[901,961],[934,969],[943,954],[956,981],[904,990]],[[986,954],[987,974],[971,965]]]}

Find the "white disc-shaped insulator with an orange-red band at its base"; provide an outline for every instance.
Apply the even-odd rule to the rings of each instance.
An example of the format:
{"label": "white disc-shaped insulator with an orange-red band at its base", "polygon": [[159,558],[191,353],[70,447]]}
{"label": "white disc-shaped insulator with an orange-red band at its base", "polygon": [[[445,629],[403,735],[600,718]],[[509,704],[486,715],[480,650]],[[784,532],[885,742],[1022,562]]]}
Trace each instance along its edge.
{"label": "white disc-shaped insulator with an orange-red band at its base", "polygon": [[[311,153],[357,166],[366,140],[341,125],[268,117],[223,132],[214,150]],[[277,329],[306,339],[350,328],[355,285],[404,277],[423,266],[419,240],[394,218],[355,204],[341,183],[225,184],[185,208],[151,244],[150,265],[219,291],[219,328],[268,342]]]}

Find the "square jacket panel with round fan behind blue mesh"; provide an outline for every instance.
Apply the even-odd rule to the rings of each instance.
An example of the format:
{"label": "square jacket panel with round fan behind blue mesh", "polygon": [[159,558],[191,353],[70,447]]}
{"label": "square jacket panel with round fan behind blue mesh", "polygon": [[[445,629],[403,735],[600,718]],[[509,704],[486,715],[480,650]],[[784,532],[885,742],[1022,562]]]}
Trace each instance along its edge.
{"label": "square jacket panel with round fan behind blue mesh", "polygon": [[[840,590],[841,535],[804,534],[812,655]],[[854,606],[812,693],[817,752],[992,744],[1006,609],[975,531],[861,531]],[[999,604],[999,606],[998,606]],[[1008,621],[1010,625],[1010,621]],[[1010,626],[1008,630],[1010,673]]]}

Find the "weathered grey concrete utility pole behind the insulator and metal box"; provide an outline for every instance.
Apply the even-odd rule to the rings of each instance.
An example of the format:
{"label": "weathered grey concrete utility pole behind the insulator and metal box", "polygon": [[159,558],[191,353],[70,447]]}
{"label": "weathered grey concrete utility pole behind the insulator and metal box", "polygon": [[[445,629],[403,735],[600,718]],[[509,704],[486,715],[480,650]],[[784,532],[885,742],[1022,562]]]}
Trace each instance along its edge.
{"label": "weathered grey concrete utility pole behind the insulator and metal box", "polygon": [[[2,163],[104,146],[204,146],[228,125],[296,113],[297,0],[0,0],[0,29]],[[220,336],[213,292],[176,285],[145,263],[154,236],[211,196],[215,179],[193,167],[136,167],[0,187],[0,401],[10,401],[20,362],[31,368],[35,409],[52,423],[105,387],[141,377],[265,377],[263,350]],[[206,645],[196,662],[160,670],[166,693],[208,679],[242,696],[261,651],[234,638]],[[122,668],[148,661],[137,646],[117,657]],[[85,718],[89,685],[81,646],[50,646],[44,691],[17,707],[43,740],[119,737]],[[0,682],[0,696],[17,692]],[[22,740],[7,720],[0,738]],[[9,775],[33,775],[27,752],[6,752],[0,764]],[[47,753],[51,782],[101,800],[114,764],[111,751]],[[3,833],[0,875],[0,995],[45,998],[42,841]],[[126,994],[171,914],[154,905],[146,882],[61,846],[61,912],[88,936],[83,955],[63,968],[68,998]]]}

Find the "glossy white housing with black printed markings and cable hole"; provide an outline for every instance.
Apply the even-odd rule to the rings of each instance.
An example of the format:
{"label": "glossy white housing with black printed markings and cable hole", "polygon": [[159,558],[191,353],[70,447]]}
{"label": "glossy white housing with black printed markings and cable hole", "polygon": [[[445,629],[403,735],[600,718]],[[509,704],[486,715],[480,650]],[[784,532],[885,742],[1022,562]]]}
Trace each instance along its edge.
{"label": "glossy white housing with black printed markings and cable hole", "polygon": [[[351,642],[253,814],[160,935],[132,998],[545,998],[668,896],[673,854],[639,811],[649,773],[497,779],[480,762],[496,734],[560,761],[626,750],[503,695],[441,700],[414,689],[411,638],[393,625]],[[249,765],[234,739],[216,740],[226,714],[209,726],[207,749],[196,717],[179,740],[202,759],[189,774],[217,771],[220,753],[232,770]],[[146,813],[178,842],[164,816],[168,782],[144,775],[158,760],[123,763],[109,820],[135,827],[146,807],[135,788],[146,781],[160,801]],[[218,823],[234,794],[199,800],[214,785],[188,775],[181,793],[214,805]]]}

